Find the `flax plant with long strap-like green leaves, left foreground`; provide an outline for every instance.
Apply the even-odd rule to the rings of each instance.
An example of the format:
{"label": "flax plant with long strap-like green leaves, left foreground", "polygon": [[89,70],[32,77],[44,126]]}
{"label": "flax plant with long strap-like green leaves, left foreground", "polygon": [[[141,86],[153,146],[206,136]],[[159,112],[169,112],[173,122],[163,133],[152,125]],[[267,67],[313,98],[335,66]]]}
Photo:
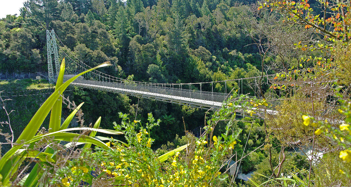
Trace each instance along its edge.
{"label": "flax plant with long strap-like green leaves, left foreground", "polygon": [[[98,67],[95,67],[94,69],[99,68],[99,67],[104,67],[106,65],[109,65],[109,64],[106,64],[106,63],[101,64]],[[90,69],[90,70],[87,70],[85,72],[82,72],[82,73],[72,77],[71,79],[69,79],[65,83],[63,83],[62,80],[63,80],[63,74],[65,72],[64,69],[65,69],[65,59],[63,59],[62,63],[61,63],[61,71],[60,71],[60,74],[58,76],[57,88],[55,88],[55,91],[53,92],[53,94],[51,96],[49,96],[49,98],[41,105],[39,110],[35,113],[35,115],[29,121],[28,125],[22,131],[20,136],[17,138],[15,145],[10,150],[8,150],[3,155],[3,157],[0,159],[0,173],[2,175],[1,182],[4,185],[8,185],[9,180],[16,180],[16,178],[17,178],[16,173],[18,173],[19,166],[22,165],[24,158],[27,158],[27,157],[37,158],[38,155],[44,154],[44,155],[42,155],[42,157],[40,157],[40,160],[42,162],[45,163],[45,162],[53,161],[51,158],[53,158],[55,156],[55,154],[53,154],[54,151],[51,148],[45,148],[45,150],[44,150],[45,153],[49,154],[49,155],[47,154],[47,156],[45,156],[45,153],[39,152],[38,154],[36,154],[36,152],[33,153],[30,150],[41,139],[45,139],[47,137],[52,137],[53,140],[60,142],[62,140],[63,141],[73,141],[74,139],[76,139],[78,137],[78,140],[77,140],[78,142],[92,143],[92,144],[101,146],[105,149],[106,148],[108,149],[108,147],[98,139],[95,139],[93,137],[88,137],[85,135],[79,135],[77,133],[68,133],[66,131],[92,130],[92,131],[104,132],[104,133],[109,133],[109,134],[120,134],[121,133],[121,132],[111,131],[111,130],[92,129],[92,128],[86,129],[84,127],[78,127],[78,128],[72,128],[72,129],[62,128],[62,130],[59,130],[61,127],[60,116],[61,116],[61,110],[62,110],[62,105],[61,105],[62,104],[62,97],[59,95],[59,92],[62,93],[67,88],[69,83],[74,81],[74,79],[77,78],[78,76],[80,76],[88,71],[93,70],[93,69]],[[59,99],[60,97],[61,97],[61,99]],[[58,105],[58,103],[59,103],[59,105]],[[55,111],[55,110],[57,110],[57,111]],[[46,134],[38,133],[35,136],[35,134],[37,133],[37,130],[39,129],[41,124],[44,122],[46,116],[48,115],[48,113],[50,111],[51,111],[52,115],[51,115],[50,123],[49,123],[49,127],[50,127],[49,132]],[[73,111],[73,112],[76,112],[76,111]],[[74,113],[73,113],[73,115],[74,115]],[[73,115],[71,115],[71,116],[73,116]],[[64,122],[62,126],[66,126],[65,124],[68,124],[68,122]],[[97,125],[97,127],[98,127],[98,125]],[[80,139],[80,137],[83,139]],[[21,149],[22,147],[24,147],[24,145],[29,145],[29,146],[27,146],[27,148],[25,148],[25,149]],[[50,156],[50,155],[52,155],[52,156]],[[49,156],[51,157],[50,159],[47,158]],[[32,186],[40,178],[40,175],[37,174],[37,168],[38,168],[38,164],[33,168],[31,174],[29,174],[28,177],[26,178],[26,181],[24,182],[26,185]]]}

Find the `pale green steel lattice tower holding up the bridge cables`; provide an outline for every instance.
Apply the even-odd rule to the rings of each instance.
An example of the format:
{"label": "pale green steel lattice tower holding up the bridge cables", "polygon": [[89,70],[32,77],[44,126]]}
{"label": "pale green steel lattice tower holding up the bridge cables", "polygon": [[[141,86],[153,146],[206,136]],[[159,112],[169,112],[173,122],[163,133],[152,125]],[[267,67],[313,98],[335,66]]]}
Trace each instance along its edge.
{"label": "pale green steel lattice tower holding up the bridge cables", "polygon": [[54,30],[46,30],[46,47],[47,47],[47,70],[49,83],[54,83],[54,69],[52,64],[52,55],[54,55],[55,70],[58,75],[60,71],[58,46],[56,43],[56,34]]}

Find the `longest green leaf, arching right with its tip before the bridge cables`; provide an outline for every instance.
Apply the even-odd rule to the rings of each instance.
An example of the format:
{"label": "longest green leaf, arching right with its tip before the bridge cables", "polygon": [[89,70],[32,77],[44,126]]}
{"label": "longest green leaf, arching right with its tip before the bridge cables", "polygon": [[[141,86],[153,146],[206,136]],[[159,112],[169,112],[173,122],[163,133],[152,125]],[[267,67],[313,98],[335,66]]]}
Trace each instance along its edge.
{"label": "longest green leaf, arching right with its tip before the bridge cables", "polygon": [[[18,137],[16,140],[16,143],[20,144],[22,140],[29,140],[32,139],[35,133],[38,131],[39,127],[41,124],[44,122],[44,119],[50,112],[50,109],[56,102],[57,98],[59,97],[59,94],[65,91],[65,89],[68,87],[70,83],[72,83],[77,77],[91,71],[97,68],[105,67],[111,65],[111,63],[102,63],[98,65],[97,67],[94,67],[92,69],[86,70],[84,72],[81,72],[80,74],[68,79],[65,83],[63,83],[59,89],[55,90],[51,96],[44,102],[44,104],[41,105],[39,110],[35,113],[33,118],[29,121],[28,125],[25,127],[25,129],[22,131],[21,135]],[[1,159],[2,160],[2,159]],[[3,164],[0,161],[0,169],[3,169]]]}

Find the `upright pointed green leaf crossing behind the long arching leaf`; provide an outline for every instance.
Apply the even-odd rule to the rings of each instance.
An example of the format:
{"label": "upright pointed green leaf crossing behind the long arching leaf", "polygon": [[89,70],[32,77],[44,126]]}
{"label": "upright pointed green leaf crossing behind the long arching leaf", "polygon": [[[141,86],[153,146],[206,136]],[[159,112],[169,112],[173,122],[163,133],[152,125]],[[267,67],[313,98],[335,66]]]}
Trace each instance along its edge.
{"label": "upright pointed green leaf crossing behind the long arching leaf", "polygon": [[[55,90],[60,88],[63,84],[65,74],[65,58],[62,59],[59,76],[56,81]],[[60,129],[61,126],[61,113],[62,113],[62,97],[59,96],[51,109],[50,121],[49,121],[49,132],[55,132]]]}

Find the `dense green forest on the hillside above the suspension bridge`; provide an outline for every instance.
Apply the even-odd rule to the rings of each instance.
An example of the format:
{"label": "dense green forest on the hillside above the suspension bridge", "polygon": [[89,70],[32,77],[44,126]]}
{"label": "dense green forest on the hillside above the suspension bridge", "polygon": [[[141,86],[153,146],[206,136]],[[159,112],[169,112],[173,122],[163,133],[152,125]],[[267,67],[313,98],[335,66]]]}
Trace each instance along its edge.
{"label": "dense green forest on the hillside above the suspension bridge", "polygon": [[109,60],[109,73],[122,78],[186,83],[259,75],[258,49],[243,32],[253,15],[243,3],[250,2],[29,0],[20,15],[1,19],[1,71],[47,71],[46,29],[54,29],[83,62]]}

